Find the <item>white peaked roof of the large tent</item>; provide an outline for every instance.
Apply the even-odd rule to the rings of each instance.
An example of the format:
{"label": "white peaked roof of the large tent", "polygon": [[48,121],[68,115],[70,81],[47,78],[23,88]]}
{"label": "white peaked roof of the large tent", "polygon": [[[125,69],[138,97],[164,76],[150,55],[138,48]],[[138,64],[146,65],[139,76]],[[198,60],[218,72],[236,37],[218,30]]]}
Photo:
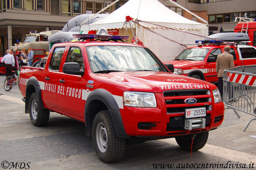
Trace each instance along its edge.
{"label": "white peaked roof of the large tent", "polygon": [[[125,17],[130,16],[138,20],[157,23],[173,29],[206,29],[207,24],[197,23],[186,19],[171,9],[164,6],[158,0],[129,0],[116,11],[109,14],[102,20],[90,24],[90,30],[98,30],[101,27],[106,29],[120,29],[125,23]],[[161,28],[160,26],[142,23],[148,28]],[[128,26],[129,27],[129,26]],[[134,25],[133,25],[134,27]],[[82,25],[80,31],[88,31],[88,25]]]}

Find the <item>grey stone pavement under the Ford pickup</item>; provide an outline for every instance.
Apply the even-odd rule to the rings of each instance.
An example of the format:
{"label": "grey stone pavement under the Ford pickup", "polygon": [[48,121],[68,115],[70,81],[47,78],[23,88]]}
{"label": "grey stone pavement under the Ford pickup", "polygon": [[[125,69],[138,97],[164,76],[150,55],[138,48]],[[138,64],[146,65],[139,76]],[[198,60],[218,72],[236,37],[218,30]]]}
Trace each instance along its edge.
{"label": "grey stone pavement under the Ford pickup", "polygon": [[32,170],[150,170],[152,164],[226,164],[228,161],[239,161],[248,167],[251,162],[256,163],[256,138],[249,136],[256,135],[256,121],[242,132],[252,116],[240,113],[241,118],[237,118],[232,109],[226,109],[224,123],[209,133],[206,146],[193,152],[192,157],[190,152],[178,147],[175,139],[164,139],[128,144],[122,161],[105,164],[97,158],[92,138],[85,136],[83,123],[51,113],[47,127],[33,126],[29,115],[24,113],[20,92],[4,91],[4,78],[0,76],[0,163],[30,162]]}

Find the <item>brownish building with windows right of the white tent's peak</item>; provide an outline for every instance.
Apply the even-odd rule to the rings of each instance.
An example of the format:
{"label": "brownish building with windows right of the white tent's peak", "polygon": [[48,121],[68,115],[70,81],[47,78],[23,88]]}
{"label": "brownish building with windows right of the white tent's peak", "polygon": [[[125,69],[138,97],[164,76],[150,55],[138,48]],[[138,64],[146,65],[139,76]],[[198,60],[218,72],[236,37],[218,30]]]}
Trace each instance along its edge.
{"label": "brownish building with windows right of the white tent's peak", "polygon": [[[209,23],[209,33],[233,32],[236,17],[256,18],[256,0],[176,0]],[[183,16],[201,22],[183,11]]]}

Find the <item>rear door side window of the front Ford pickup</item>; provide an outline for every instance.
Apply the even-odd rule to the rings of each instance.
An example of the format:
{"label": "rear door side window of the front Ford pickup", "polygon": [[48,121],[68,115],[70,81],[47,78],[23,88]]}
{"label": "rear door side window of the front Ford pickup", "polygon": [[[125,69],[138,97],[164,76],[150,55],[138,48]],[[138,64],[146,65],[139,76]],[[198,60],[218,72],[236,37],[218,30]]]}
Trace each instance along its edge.
{"label": "rear door side window of the front Ford pickup", "polygon": [[65,51],[65,47],[57,47],[54,49],[52,54],[51,63],[49,65],[49,69],[53,71],[58,71],[61,65],[61,59],[63,57]]}

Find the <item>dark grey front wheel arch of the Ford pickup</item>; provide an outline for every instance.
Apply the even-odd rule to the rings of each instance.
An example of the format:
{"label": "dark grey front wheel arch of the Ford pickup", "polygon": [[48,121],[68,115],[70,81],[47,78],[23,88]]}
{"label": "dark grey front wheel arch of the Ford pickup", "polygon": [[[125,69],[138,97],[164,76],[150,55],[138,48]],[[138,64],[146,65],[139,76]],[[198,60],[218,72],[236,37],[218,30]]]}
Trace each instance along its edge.
{"label": "dark grey front wheel arch of the Ford pickup", "polygon": [[108,109],[113,121],[116,135],[122,138],[128,138],[122,122],[119,105],[114,96],[105,89],[95,89],[88,95],[84,107],[84,123],[86,127],[86,135],[92,133],[93,119],[97,112]]}

